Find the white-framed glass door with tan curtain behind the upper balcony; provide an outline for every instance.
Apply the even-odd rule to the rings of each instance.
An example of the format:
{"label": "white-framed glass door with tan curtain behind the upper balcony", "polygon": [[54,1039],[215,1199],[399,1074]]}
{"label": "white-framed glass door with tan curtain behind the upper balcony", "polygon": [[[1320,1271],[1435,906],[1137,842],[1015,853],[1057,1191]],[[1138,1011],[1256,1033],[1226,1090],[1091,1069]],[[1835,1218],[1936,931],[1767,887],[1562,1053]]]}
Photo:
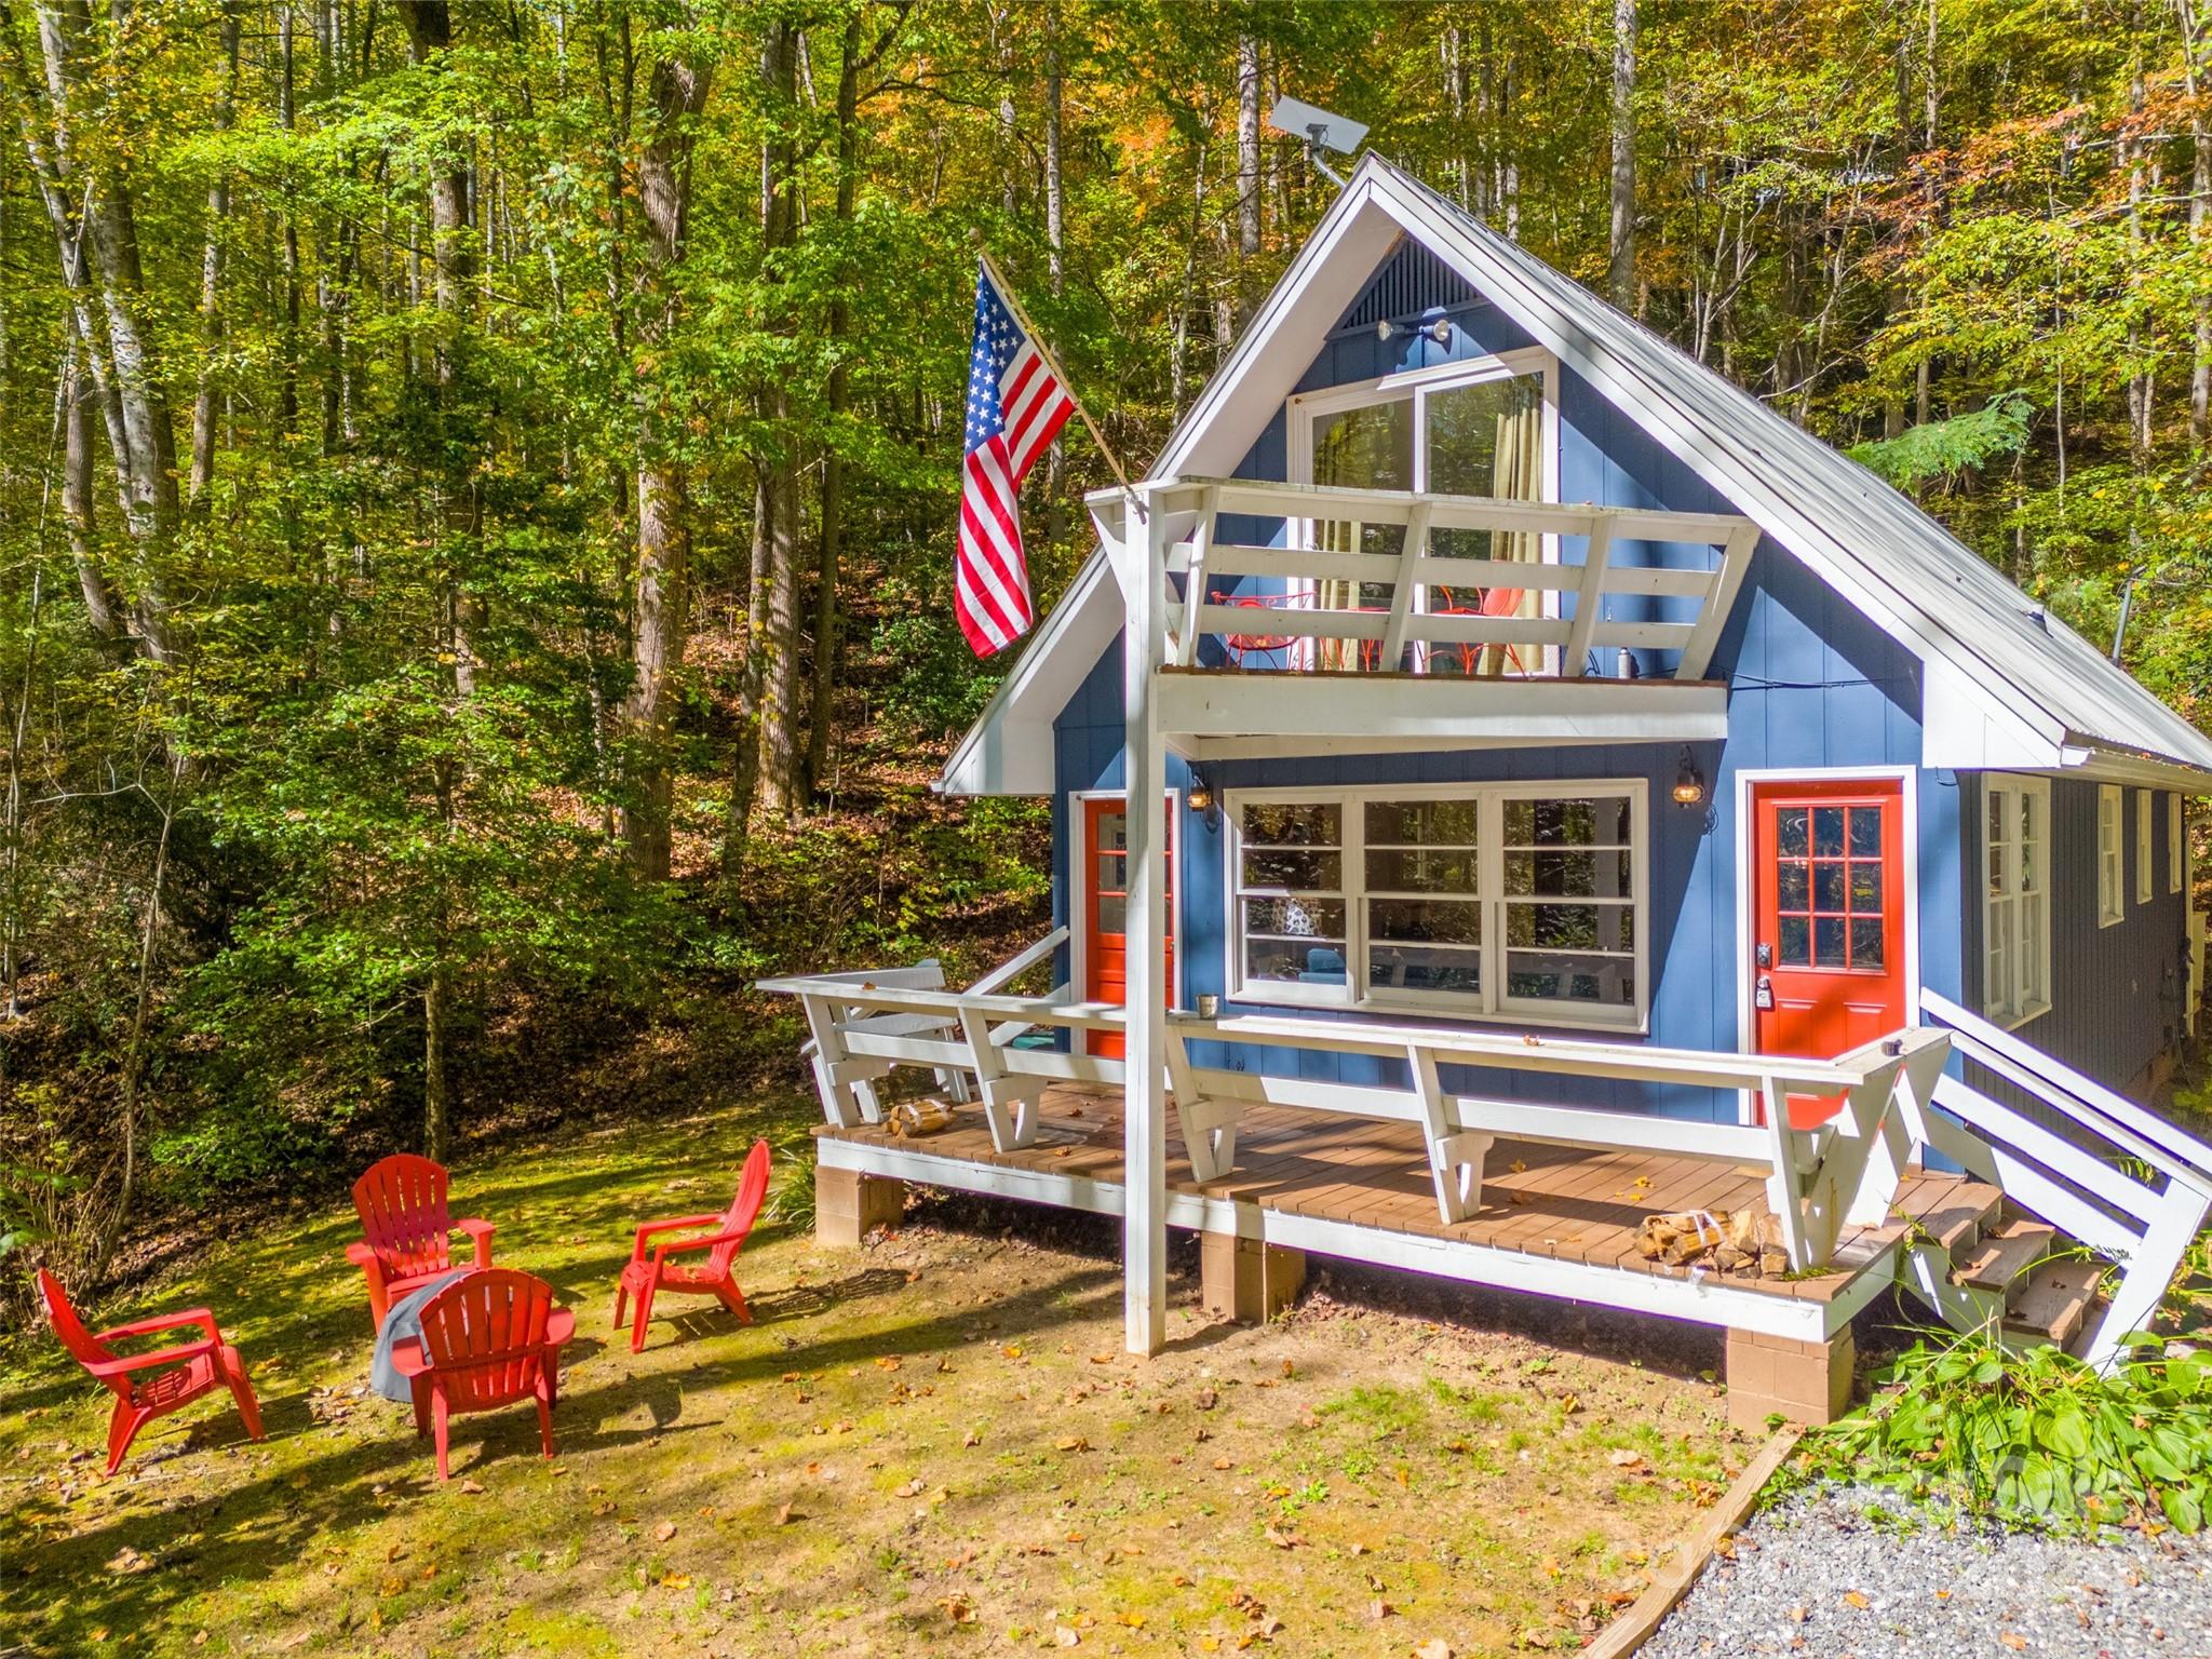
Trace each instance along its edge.
{"label": "white-framed glass door with tan curtain behind the upper balcony", "polygon": [[[1489,495],[1502,500],[1559,500],[1559,363],[1551,352],[1528,347],[1495,356],[1438,363],[1425,369],[1385,374],[1376,380],[1303,392],[1285,403],[1290,438],[1290,482],[1387,489],[1436,495]],[[1296,529],[1303,546],[1334,553],[1398,553],[1402,524],[1358,520],[1307,520]],[[1440,560],[1502,560],[1557,564],[1559,538],[1528,531],[1436,529],[1429,553]],[[1327,584],[1298,584],[1316,593]],[[1387,586],[1374,593],[1347,591],[1327,597],[1336,606],[1389,602]],[[1425,584],[1413,595],[1416,611],[1480,611],[1486,615],[1553,615],[1559,597],[1551,588],[1502,591],[1480,584]],[[1323,641],[1327,653],[1347,657],[1356,644]],[[1548,672],[1555,653],[1522,646],[1498,653],[1500,661],[1469,661],[1480,653],[1451,653],[1451,664],[1469,670]],[[1511,661],[1506,657],[1511,655]],[[1542,655],[1546,661],[1535,661]],[[1526,661],[1524,661],[1526,657]],[[1429,668],[1420,653],[1416,668]]]}

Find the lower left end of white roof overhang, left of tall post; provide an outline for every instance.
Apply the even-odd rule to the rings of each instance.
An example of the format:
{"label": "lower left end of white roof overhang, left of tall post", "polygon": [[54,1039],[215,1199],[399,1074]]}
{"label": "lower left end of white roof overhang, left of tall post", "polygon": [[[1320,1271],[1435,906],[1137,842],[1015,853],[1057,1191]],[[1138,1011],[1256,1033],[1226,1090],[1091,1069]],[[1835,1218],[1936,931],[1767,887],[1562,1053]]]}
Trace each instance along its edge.
{"label": "lower left end of white roof overhang, left of tall post", "polygon": [[945,761],[940,794],[1051,794],[1053,721],[1121,628],[1121,586],[1095,551]]}

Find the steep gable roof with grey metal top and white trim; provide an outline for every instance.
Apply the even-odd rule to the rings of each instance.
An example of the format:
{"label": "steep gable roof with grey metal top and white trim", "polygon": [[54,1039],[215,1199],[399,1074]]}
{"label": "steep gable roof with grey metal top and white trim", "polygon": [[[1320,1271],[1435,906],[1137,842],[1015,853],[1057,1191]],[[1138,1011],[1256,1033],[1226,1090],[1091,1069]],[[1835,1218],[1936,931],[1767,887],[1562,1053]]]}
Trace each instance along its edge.
{"label": "steep gable roof with grey metal top and white trim", "polygon": [[[1927,765],[2212,781],[2212,739],[1911,500],[1378,155],[1360,161],[1148,478],[1230,473],[1296,387],[1312,347],[1407,234],[1927,666]],[[1073,653],[1079,675],[1106,648],[1119,622],[1099,604],[1102,564],[1084,568],[1031,657]],[[942,787],[1051,787],[1048,757],[1042,776],[1033,759],[1009,768],[1020,757],[987,730],[1009,719],[1035,730],[1042,717],[1048,737],[1060,703],[1024,708],[1022,679],[1057,677],[1018,668],[956,750]]]}

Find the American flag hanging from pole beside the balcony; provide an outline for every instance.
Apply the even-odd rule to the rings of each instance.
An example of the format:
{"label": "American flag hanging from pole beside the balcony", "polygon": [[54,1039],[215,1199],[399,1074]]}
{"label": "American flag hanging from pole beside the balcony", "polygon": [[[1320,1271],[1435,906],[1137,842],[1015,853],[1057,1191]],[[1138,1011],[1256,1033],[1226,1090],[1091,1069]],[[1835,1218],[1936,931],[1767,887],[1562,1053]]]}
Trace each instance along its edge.
{"label": "American flag hanging from pole beside the balcony", "polygon": [[978,265],[960,555],[953,562],[953,615],[978,657],[1004,650],[1035,622],[1020,491],[1071,414],[1075,398],[1053,361],[1022,332],[989,265]]}

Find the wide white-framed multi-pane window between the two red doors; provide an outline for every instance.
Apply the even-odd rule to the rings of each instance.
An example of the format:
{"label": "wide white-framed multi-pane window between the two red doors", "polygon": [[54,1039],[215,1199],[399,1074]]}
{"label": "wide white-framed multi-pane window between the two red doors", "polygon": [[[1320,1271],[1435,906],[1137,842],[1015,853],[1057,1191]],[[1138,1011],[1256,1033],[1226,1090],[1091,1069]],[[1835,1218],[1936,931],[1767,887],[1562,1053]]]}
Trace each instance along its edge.
{"label": "wide white-framed multi-pane window between the two red doors", "polygon": [[1641,779],[1232,790],[1230,995],[1641,1031]]}

